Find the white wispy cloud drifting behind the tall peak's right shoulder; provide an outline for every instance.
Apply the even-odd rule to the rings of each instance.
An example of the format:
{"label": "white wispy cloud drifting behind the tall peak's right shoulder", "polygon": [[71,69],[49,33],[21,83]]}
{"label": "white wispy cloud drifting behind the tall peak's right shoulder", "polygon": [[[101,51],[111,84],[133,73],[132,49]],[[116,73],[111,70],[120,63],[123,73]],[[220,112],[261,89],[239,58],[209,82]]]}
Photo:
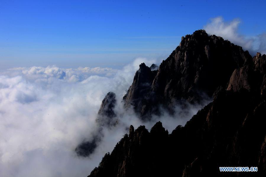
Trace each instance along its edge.
{"label": "white wispy cloud drifting behind the tall peak's right shoulder", "polygon": [[266,33],[254,36],[241,35],[238,31],[240,19],[233,19],[230,22],[225,22],[223,17],[210,19],[210,23],[204,26],[204,29],[209,35],[221,36],[226,40],[231,41],[236,45],[240,45],[244,50],[248,50],[251,55],[256,52],[266,53]]}

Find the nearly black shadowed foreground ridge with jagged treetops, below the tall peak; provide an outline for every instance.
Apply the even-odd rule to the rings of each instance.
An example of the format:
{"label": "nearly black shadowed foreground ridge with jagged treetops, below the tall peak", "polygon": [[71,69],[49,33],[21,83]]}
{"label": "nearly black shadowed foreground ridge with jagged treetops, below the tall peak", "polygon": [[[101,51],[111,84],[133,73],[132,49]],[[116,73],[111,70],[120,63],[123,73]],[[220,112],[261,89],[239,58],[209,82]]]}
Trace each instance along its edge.
{"label": "nearly black shadowed foreground ridge with jagged treetops, below the tall peak", "polygon": [[[150,132],[131,126],[108,156],[109,165],[89,177],[264,176],[265,110],[265,100],[246,90],[222,91],[170,135],[161,122]],[[226,173],[221,166],[255,166],[258,172]]]}

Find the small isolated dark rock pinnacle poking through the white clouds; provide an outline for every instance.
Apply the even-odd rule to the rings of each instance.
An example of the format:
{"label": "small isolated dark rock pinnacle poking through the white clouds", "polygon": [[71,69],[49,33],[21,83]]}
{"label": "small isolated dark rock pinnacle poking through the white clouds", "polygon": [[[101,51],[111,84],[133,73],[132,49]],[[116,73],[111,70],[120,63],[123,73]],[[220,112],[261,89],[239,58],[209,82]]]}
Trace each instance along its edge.
{"label": "small isolated dark rock pinnacle poking through the white clouds", "polygon": [[116,94],[113,92],[108,92],[104,97],[98,111],[98,117],[96,119],[98,129],[96,132],[94,132],[93,138],[90,141],[84,140],[77,146],[77,148],[75,148],[75,152],[78,156],[90,156],[90,154],[94,152],[95,148],[97,148],[97,143],[101,140],[102,128],[116,125],[116,113],[114,112],[115,104]]}

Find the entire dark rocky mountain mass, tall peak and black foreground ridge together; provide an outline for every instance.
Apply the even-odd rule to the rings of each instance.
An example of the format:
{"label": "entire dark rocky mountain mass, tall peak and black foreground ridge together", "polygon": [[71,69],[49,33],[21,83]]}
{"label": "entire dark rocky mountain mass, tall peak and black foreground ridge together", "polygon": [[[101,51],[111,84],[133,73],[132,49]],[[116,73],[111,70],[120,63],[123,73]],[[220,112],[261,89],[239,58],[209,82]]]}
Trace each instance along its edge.
{"label": "entire dark rocky mountain mass, tall peak and black foreground ridge together", "polygon": [[[213,101],[171,134],[157,122],[117,143],[90,177],[265,176],[266,55],[248,51],[204,30],[182,37],[180,45],[151,71],[144,63],[124,96],[143,120],[173,112],[182,101]],[[258,172],[220,172],[219,167],[258,167]]]}

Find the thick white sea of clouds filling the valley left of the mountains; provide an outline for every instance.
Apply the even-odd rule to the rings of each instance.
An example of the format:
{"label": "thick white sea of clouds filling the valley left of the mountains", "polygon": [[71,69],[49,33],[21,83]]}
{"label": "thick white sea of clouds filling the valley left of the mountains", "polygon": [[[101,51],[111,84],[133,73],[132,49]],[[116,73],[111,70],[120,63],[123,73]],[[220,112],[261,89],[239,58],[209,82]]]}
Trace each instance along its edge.
{"label": "thick white sea of clouds filling the valley left of the mountains", "polygon": [[[192,106],[170,116],[153,117],[143,123],[132,109],[124,110],[122,97],[140,63],[137,58],[121,70],[56,66],[12,68],[0,72],[0,176],[86,176],[111,152],[129,126],[151,128],[158,120],[170,132],[184,125],[202,106]],[[119,124],[103,129],[103,138],[88,158],[74,149],[97,132],[95,119],[109,91],[117,96]]]}

